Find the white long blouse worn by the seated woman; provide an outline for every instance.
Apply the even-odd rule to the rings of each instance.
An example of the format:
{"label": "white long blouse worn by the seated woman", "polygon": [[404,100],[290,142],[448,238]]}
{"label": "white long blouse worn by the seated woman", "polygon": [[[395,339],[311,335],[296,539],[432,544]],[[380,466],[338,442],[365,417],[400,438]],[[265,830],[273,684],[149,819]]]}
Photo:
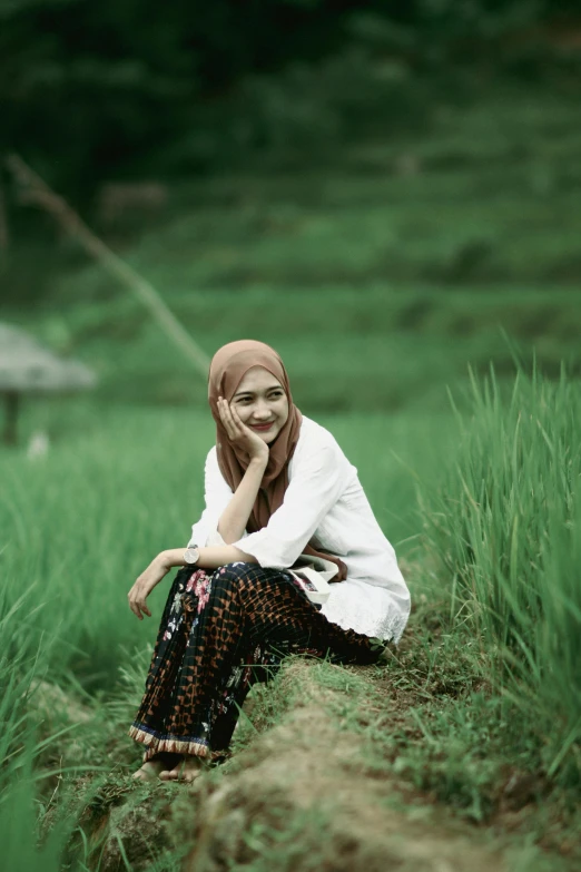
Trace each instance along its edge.
{"label": "white long blouse worn by the seated woman", "polygon": [[[191,528],[189,545],[224,545],[217,528],[233,491],[219,470],[216,447],[206,460],[205,492],[206,508]],[[245,532],[233,545],[262,567],[287,569],[309,541],[347,566],[346,580],[331,585],[323,615],[344,629],[397,643],[410,615],[410,591],[395,551],[355,467],[328,430],[303,415],[283,504],[266,527]]]}

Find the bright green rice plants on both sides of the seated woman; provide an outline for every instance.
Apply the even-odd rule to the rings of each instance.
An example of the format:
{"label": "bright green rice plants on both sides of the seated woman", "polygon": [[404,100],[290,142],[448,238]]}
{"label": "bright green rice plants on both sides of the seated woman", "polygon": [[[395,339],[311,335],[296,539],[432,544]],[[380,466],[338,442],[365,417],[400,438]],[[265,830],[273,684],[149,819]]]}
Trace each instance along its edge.
{"label": "bright green rice plants on both sides of the seated woman", "polygon": [[[452,755],[444,786],[442,761],[439,768],[431,749],[455,722],[456,744],[477,760],[482,736],[467,722],[462,726],[462,718],[486,700],[493,736],[488,764],[501,734],[504,756],[532,773],[553,802],[554,795],[570,802],[580,788],[581,402],[564,373],[557,383],[519,373],[508,399],[494,380],[475,380],[464,402],[470,412],[445,423],[411,413],[321,420],[358,467],[404,566],[416,567],[411,633],[430,626],[426,610],[432,620],[437,616],[445,634],[432,643],[431,656],[439,651],[443,674],[455,670],[455,680],[457,658],[446,663],[446,651],[464,647],[460,680],[466,692],[446,697],[444,709],[435,699],[417,708],[431,744],[407,747],[408,777],[422,772],[425,786],[444,801],[485,820],[485,800],[480,813],[473,793],[466,802],[473,784],[451,788]],[[132,674],[131,694],[124,699],[121,693],[117,708],[118,717],[119,711],[130,716],[164,585],[151,597],[154,619],[145,624],[129,611],[126,594],[158,550],[186,541],[201,508],[200,470],[211,439],[211,421],[201,410],[87,406],[76,432],[47,457],[2,455],[0,827],[13,852],[11,870],[61,869],[72,839],[69,817],[49,829],[40,853],[30,841],[38,826],[47,826],[47,784],[58,777],[59,757],[50,748],[73,741],[60,731],[75,734],[65,715],[61,723],[55,712],[47,717],[46,686],[72,688],[99,709],[119,698],[124,672]],[[426,644],[427,637],[421,641]],[[136,752],[124,739],[122,717],[111,739],[96,716],[95,757],[79,752],[77,778],[86,766],[97,767],[96,777],[99,767],[109,776],[119,775],[119,766],[121,774],[130,771]],[[480,777],[485,797],[490,783],[482,772]],[[70,774],[62,778],[75,783]],[[20,852],[22,842],[28,853]],[[78,846],[75,856],[72,868],[82,869]]]}

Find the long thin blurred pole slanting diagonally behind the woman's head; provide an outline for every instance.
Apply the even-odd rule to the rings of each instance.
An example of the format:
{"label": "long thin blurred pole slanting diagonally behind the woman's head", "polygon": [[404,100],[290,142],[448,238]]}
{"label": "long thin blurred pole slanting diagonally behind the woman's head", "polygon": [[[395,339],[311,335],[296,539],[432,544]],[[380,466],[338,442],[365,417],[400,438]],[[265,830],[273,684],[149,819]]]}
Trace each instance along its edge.
{"label": "long thin blurred pole slanting diagonally behind the woman's head", "polygon": [[119,255],[115,254],[100,239],[69,204],[56,194],[43,179],[26,164],[18,155],[9,155],[6,165],[24,188],[26,200],[40,206],[50,213],[56,221],[72,236],[77,237],[83,248],[101,263],[121,284],[129,287],[135,296],[149,310],[157,323],[170,340],[181,350],[204,379],[207,378],[209,357],[195,342],[189,333],[176,319],[170,308],[161,300],[154,285],[129,266]]}

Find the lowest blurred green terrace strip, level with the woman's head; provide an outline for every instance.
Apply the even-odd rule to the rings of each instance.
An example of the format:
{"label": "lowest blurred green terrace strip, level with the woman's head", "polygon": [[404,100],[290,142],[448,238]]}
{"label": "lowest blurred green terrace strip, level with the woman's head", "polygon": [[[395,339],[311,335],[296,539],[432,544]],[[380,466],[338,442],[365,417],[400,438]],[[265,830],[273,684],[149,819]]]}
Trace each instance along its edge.
{"label": "lowest blurred green terrace strip, level with the woman's head", "polygon": [[[510,379],[513,350],[503,333],[524,360],[534,349],[549,373],[558,375],[563,359],[580,372],[581,294],[573,290],[262,287],[166,298],[208,355],[240,336],[274,345],[307,414],[447,413],[445,386],[467,383],[467,363],[485,372],[493,360]],[[122,290],[101,303],[55,304],[14,321],[92,366],[104,401],[206,405],[204,380]]]}

